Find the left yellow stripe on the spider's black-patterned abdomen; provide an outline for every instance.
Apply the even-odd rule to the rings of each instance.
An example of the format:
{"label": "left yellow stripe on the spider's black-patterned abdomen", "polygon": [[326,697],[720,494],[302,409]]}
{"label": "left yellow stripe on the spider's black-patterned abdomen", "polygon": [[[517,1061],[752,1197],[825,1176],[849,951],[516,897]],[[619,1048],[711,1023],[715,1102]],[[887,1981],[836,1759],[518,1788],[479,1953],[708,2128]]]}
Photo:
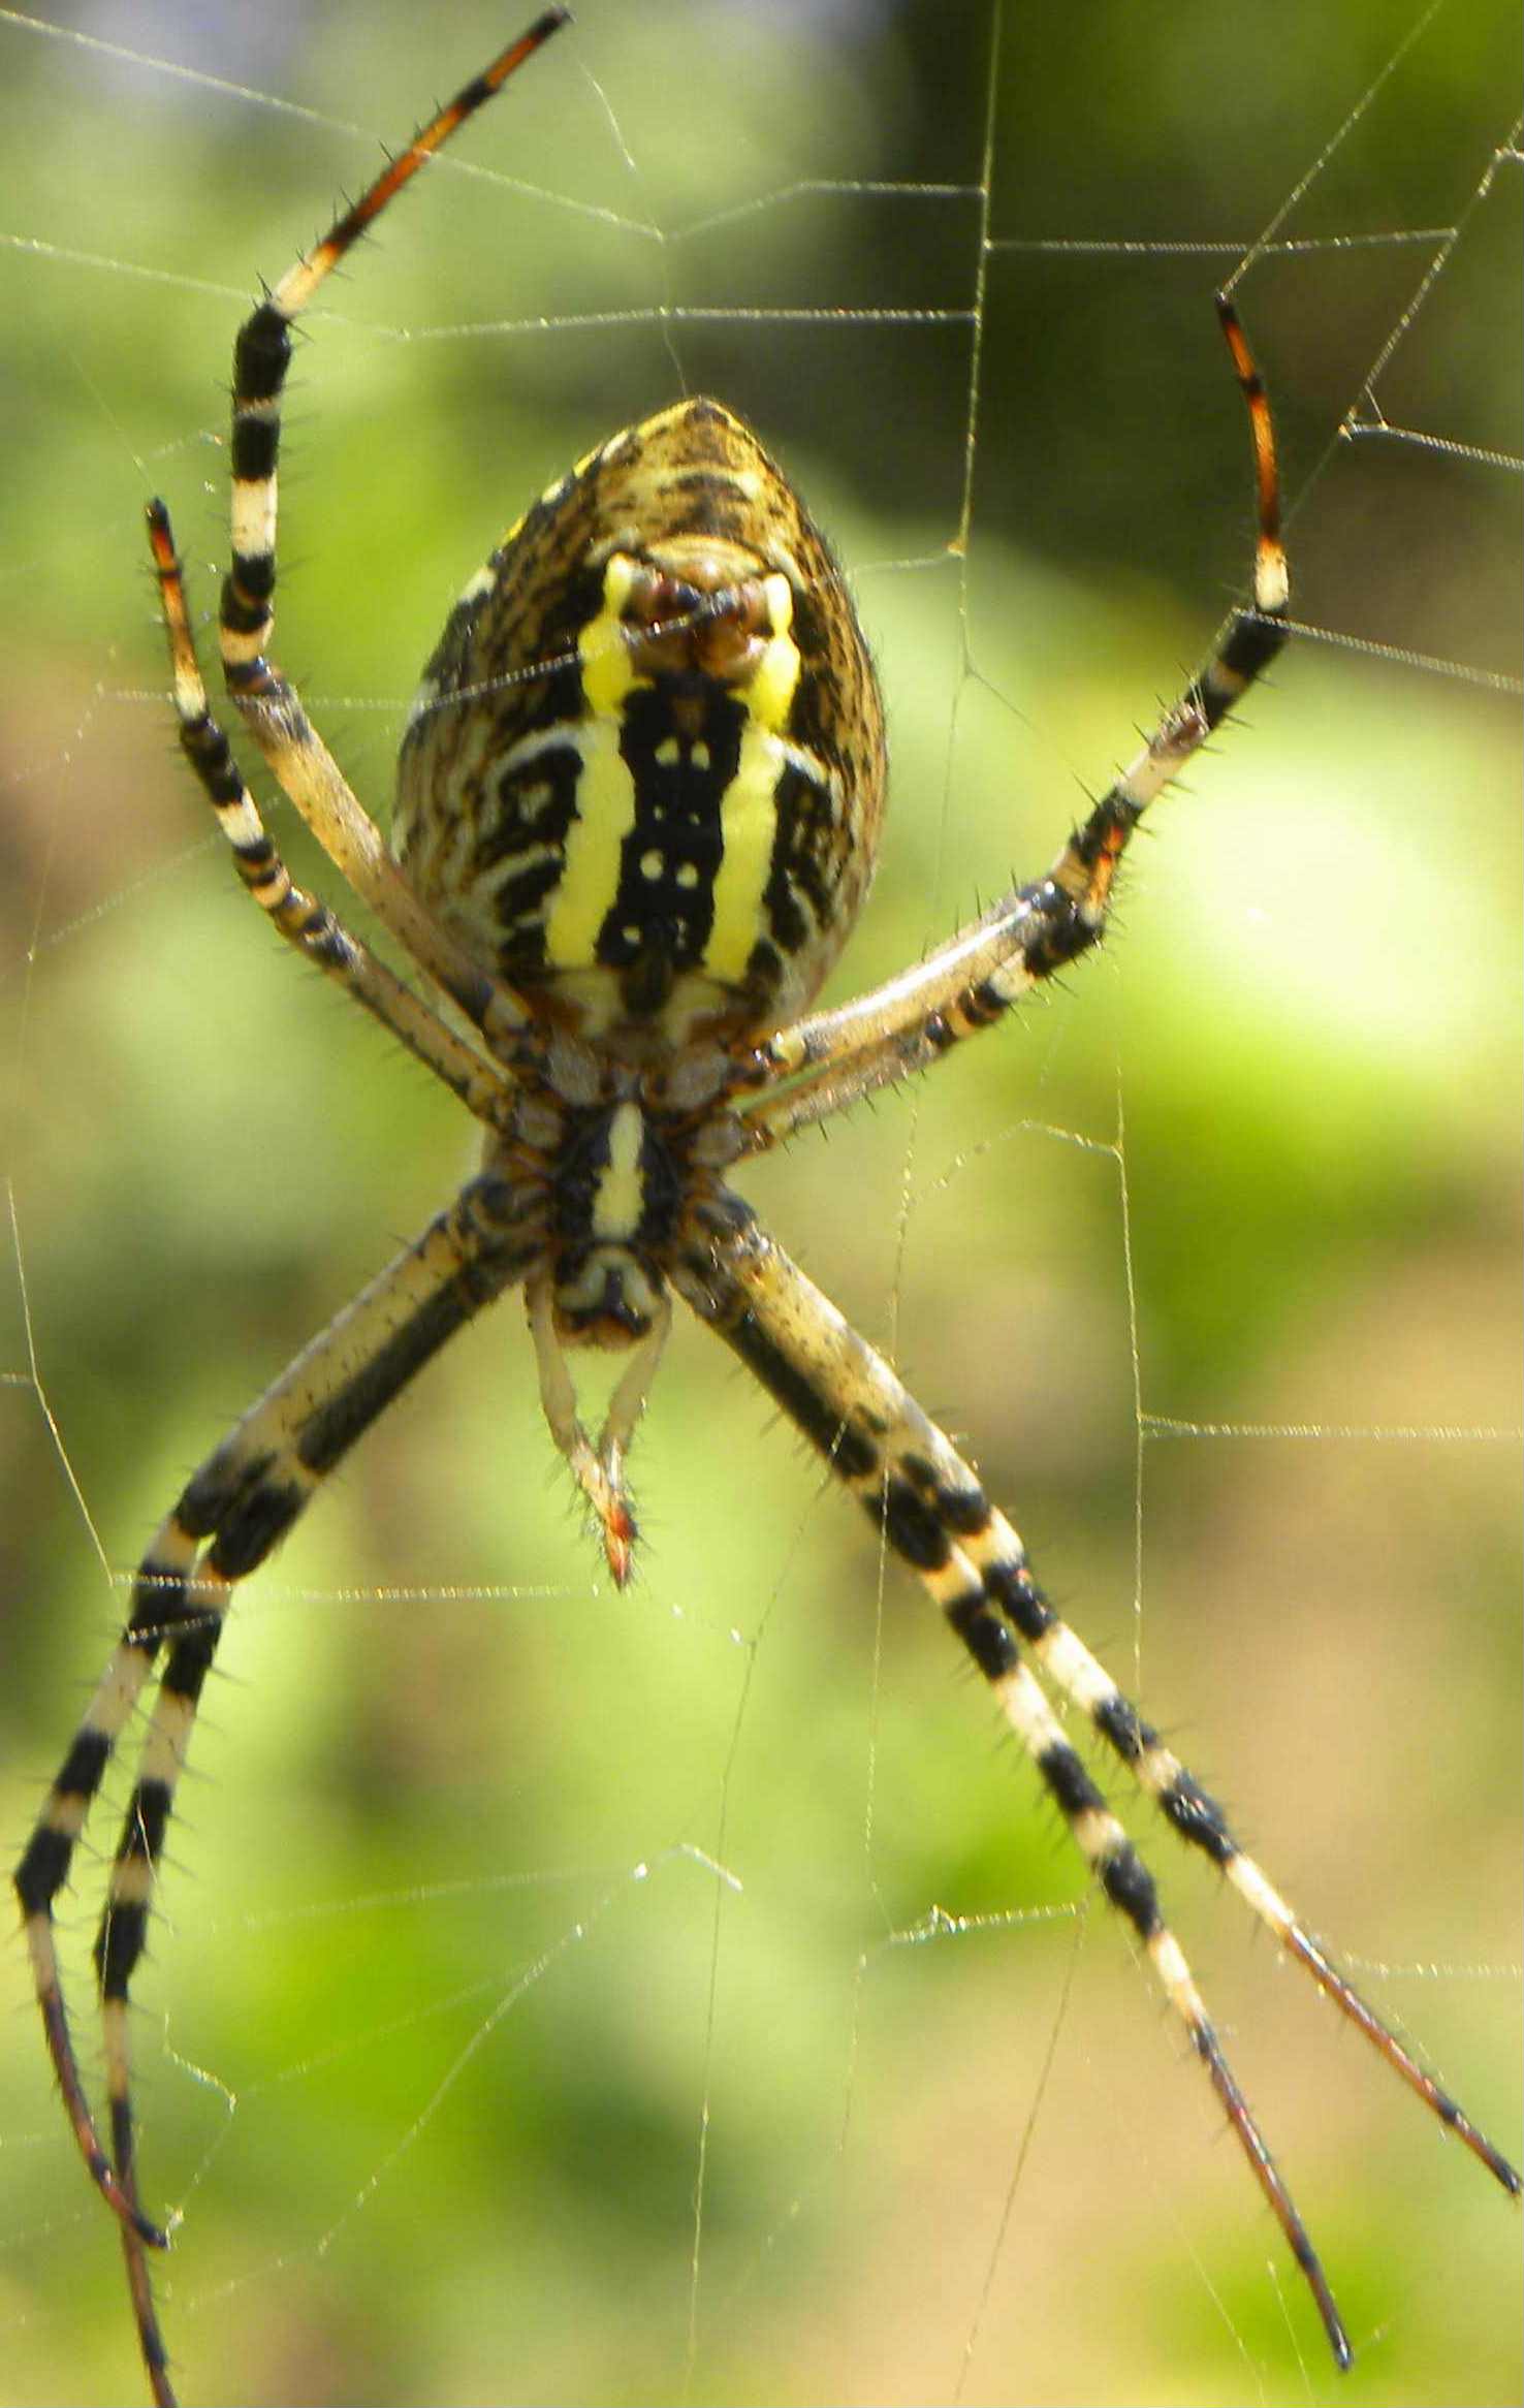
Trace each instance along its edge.
{"label": "left yellow stripe on the spider's black-patterned abdomen", "polygon": [[566,869],[544,922],[544,956],[559,970],[592,963],[597,932],[619,893],[619,857],[624,838],[636,826],[636,778],[621,759],[621,710],[636,686],[628,638],[621,626],[636,578],[626,551],[614,551],[604,568],[599,612],[578,636],[587,718],[575,730],[583,756],[578,773],[578,816],[566,831]]}

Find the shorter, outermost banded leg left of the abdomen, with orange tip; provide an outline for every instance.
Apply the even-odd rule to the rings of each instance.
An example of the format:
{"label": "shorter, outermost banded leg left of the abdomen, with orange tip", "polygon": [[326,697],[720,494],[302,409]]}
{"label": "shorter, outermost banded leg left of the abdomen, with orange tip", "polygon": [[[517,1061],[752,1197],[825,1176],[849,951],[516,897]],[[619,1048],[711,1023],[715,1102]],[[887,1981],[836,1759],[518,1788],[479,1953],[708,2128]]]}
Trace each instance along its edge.
{"label": "shorter, outermost banded leg left of the abdomen, with orange tip", "polygon": [[260,910],[270,915],[287,944],[306,954],[327,978],[373,1011],[383,1028],[443,1079],[477,1120],[501,1122],[510,1081],[501,1064],[489,1062],[448,1028],[438,1011],[424,1004],[359,937],[301,886],[291,884],[272,838],[265,833],[258,804],[234,761],[231,746],[207,708],[207,686],[195,657],[195,636],[185,609],[185,580],[176,559],[173,527],[161,501],[147,506],[149,547],[159,576],[173,703],[181,722],[181,751],[200,778],[217,824],[234,850],[234,867]]}

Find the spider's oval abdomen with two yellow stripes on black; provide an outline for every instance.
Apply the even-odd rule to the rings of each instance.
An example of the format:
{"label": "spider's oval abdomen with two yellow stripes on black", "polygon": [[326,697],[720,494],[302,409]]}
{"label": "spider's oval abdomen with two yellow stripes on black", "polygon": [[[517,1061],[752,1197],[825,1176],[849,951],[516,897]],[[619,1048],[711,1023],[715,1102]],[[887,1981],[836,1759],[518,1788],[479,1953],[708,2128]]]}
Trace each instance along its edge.
{"label": "spider's oval abdomen with two yellow stripes on black", "polygon": [[551,486],[414,703],[395,852],[520,992],[650,1055],[797,1011],[872,877],[884,715],[756,436],[677,402]]}

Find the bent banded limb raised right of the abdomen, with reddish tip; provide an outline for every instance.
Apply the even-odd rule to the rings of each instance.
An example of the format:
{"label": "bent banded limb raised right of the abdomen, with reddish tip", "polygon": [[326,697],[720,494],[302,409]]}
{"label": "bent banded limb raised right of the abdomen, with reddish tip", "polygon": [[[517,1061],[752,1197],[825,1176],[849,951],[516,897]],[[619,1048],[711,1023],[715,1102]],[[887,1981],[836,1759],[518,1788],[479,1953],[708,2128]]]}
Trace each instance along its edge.
{"label": "bent banded limb raised right of the abdomen, with reddish tip", "polygon": [[927,1069],[961,1038],[992,1028],[1042,978],[1098,944],[1117,862],[1139,819],[1286,643],[1290,583],[1269,400],[1225,296],[1218,296],[1218,315],[1254,441],[1259,535],[1252,604],[1230,612],[1201,674],[1165,710],[1047,877],[1004,896],[915,970],[835,1011],[795,1021],[758,1047],[775,1079],[790,1084],[782,1091],[768,1086],[737,1105],[751,1132],[751,1151],[780,1144],[876,1086]]}

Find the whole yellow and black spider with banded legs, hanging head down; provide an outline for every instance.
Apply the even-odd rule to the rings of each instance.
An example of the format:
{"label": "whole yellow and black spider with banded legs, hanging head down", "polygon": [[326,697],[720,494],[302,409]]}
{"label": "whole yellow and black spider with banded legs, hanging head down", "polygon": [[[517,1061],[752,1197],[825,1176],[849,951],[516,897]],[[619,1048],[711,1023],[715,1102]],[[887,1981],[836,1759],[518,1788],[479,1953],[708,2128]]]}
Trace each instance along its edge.
{"label": "whole yellow and black spider with banded legs, hanging head down", "polygon": [[[874,667],[797,494],[749,426],[710,400],[677,402],[587,453],[469,580],[407,720],[388,852],[270,657],[291,325],[402,185],[563,22],[566,10],[547,10],[465,84],[260,301],[234,352],[226,691],[284,795],[448,1014],[287,874],[207,706],[169,513],[161,501],[147,508],[181,746],[238,877],[279,934],[486,1132],[482,1170],[296,1356],[159,1524],[14,1876],[65,2112],[120,2223],[149,2386],[173,2403],[149,2278],[169,2232],[140,2201],[128,1994],[231,1589],[424,1363],[510,1288],[525,1300],[549,1433],[619,1584],[636,1546],[626,1454],[672,1296],[739,1356],[920,1577],[1134,1931],[1343,2367],[1351,2343],[1307,2227],[1153,1876],[1055,1695],[1507,2191],[1519,2194],[1519,2174],[1351,1989],[1223,1808],[1055,1611],[973,1466],[727,1185],[732,1165],[929,1069],[1098,944],[1144,809],[1286,641],[1264,385],[1221,296],[1257,474],[1252,602],[1233,609],[1201,674],[1052,867],[872,995],[809,1011],[879,843],[886,756]],[[568,1363],[580,1346],[626,1358],[597,1438]],[[94,1946],[106,2138],[65,2015],[53,1905],[154,1676]]]}

